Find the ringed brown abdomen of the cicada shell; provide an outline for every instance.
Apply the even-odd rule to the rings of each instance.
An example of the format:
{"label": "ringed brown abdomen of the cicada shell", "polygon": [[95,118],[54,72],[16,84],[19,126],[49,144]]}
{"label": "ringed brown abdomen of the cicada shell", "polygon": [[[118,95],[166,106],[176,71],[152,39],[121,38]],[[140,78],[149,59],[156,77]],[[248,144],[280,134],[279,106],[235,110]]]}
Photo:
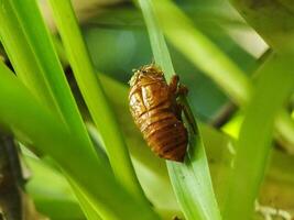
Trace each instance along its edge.
{"label": "ringed brown abdomen of the cicada shell", "polygon": [[[183,162],[187,147],[187,132],[183,122],[179,121],[172,109],[172,102],[168,99],[154,101],[157,106],[143,105],[143,97],[140,94],[142,89],[130,96],[135,96],[137,105],[141,105],[140,112],[134,111],[137,107],[131,108],[137,125],[140,128],[145,141],[151,150],[159,156]],[[133,109],[133,110],[132,110]],[[137,116],[134,116],[137,112]]]}

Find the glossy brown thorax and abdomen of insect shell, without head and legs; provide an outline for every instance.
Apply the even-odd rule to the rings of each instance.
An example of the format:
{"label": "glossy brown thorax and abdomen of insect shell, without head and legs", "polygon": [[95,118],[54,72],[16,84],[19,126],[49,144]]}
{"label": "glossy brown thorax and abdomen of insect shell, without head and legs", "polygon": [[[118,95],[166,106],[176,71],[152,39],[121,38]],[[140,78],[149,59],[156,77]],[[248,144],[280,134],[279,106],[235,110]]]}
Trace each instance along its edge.
{"label": "glossy brown thorax and abdomen of insect shell, without head and legs", "polygon": [[151,150],[163,158],[183,162],[187,131],[176,118],[167,85],[138,85],[129,98],[131,113]]}

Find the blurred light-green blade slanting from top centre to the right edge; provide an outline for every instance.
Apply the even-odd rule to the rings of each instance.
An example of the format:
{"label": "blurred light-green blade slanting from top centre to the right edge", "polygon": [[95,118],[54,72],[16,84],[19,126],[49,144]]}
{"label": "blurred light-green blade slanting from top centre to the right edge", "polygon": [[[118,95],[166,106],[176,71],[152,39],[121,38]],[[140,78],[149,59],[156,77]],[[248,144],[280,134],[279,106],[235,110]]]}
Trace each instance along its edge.
{"label": "blurred light-green blade slanting from top centre to the right edge", "polygon": [[[252,85],[246,74],[222,53],[171,0],[154,2],[154,10],[167,40],[197,68],[211,78],[233,101],[246,107]],[[275,131],[294,148],[294,122],[285,110],[276,118]]]}

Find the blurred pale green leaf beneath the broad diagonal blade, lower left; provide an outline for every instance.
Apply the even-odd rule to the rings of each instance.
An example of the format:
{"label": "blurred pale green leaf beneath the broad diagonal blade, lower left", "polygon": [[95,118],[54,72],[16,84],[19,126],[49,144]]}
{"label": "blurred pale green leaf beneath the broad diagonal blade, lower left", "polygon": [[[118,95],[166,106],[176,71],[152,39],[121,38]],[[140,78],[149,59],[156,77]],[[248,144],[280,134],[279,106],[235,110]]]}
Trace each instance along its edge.
{"label": "blurred pale green leaf beneath the broad diagonal blade, lower left", "polygon": [[[29,155],[24,161],[33,173],[25,188],[42,213],[52,219],[85,218],[70,186],[57,170]],[[44,183],[51,183],[51,187],[45,188]]]}

